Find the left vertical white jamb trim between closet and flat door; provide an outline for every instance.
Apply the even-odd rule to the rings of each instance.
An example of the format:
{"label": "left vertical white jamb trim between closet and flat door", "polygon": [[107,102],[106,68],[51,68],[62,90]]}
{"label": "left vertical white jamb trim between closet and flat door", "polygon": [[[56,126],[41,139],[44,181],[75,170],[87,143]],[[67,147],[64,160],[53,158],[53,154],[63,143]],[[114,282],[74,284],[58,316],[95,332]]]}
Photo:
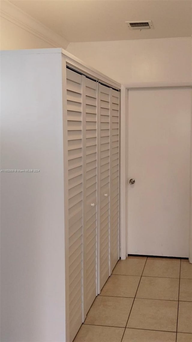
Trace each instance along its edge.
{"label": "left vertical white jamb trim between closet and flat door", "polygon": [[120,249],[127,256],[127,89],[121,86],[120,114]]}

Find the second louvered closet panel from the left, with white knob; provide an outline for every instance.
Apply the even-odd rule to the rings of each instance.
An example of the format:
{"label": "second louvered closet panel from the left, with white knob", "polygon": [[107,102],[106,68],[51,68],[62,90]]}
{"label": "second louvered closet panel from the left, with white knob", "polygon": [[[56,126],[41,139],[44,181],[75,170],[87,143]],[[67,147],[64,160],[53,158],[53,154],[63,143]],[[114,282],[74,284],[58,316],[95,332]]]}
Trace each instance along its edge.
{"label": "second louvered closet panel from the left, with white knob", "polygon": [[97,98],[98,83],[83,76],[84,318],[97,295]]}

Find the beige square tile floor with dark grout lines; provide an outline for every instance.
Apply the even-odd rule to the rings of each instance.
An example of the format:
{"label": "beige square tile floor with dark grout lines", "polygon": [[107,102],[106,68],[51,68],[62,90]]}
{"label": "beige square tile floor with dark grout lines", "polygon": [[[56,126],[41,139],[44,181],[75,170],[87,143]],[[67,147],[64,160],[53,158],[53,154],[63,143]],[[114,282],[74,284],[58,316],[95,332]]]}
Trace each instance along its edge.
{"label": "beige square tile floor with dark grout lines", "polygon": [[192,264],[118,261],[74,342],[192,342]]}

